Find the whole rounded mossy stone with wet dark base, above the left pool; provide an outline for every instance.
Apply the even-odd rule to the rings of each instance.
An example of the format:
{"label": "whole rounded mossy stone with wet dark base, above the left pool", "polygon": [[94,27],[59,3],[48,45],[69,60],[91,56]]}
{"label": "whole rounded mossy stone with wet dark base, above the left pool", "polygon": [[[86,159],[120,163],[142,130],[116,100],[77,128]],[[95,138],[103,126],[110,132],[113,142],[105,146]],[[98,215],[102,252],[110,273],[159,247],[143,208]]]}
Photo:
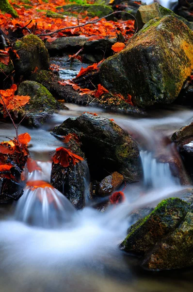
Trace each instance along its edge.
{"label": "whole rounded mossy stone with wet dark base, above the left pool", "polygon": [[[23,81],[18,87],[18,95],[31,97],[30,104],[25,106],[26,110],[33,110],[24,120],[28,126],[37,127],[40,123],[46,122],[54,112],[67,109],[43,85],[35,81]],[[21,117],[25,115],[22,111],[20,114]]]}

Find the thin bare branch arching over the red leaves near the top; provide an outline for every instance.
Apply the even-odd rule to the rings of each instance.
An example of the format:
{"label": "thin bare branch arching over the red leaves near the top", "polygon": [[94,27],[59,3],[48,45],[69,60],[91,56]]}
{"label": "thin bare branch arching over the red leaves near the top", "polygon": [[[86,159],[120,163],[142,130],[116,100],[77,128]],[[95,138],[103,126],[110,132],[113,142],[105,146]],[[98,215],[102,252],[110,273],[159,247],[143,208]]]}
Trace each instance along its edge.
{"label": "thin bare branch arching over the red leaves near the top", "polygon": [[[66,29],[79,28],[79,27],[83,27],[83,26],[88,25],[88,24],[95,24],[95,23],[97,23],[98,21],[100,21],[101,19],[103,19],[103,18],[107,18],[107,17],[109,17],[109,16],[111,16],[111,15],[114,15],[114,14],[116,14],[116,13],[126,13],[126,14],[129,14],[129,15],[131,15],[131,16],[135,19],[135,21],[136,21],[136,23],[137,23],[137,19],[136,19],[132,14],[130,14],[129,12],[126,12],[126,11],[114,11],[114,12],[112,12],[112,13],[106,15],[106,16],[103,16],[103,17],[98,18],[98,19],[96,19],[96,20],[88,21],[88,22],[86,22],[86,23],[84,23],[84,24],[63,27],[63,28],[60,28],[60,29],[55,30],[54,32],[47,33],[47,34],[46,34],[46,33],[45,33],[45,34],[40,34],[40,35],[37,35],[37,36],[38,36],[38,37],[52,36],[52,35],[54,35],[54,34],[56,34],[56,33],[59,33],[59,32],[61,32],[61,31],[66,30]],[[138,23],[137,23],[137,29],[135,30],[134,35],[136,34],[137,31],[138,31]],[[133,35],[133,36],[134,36],[134,35]]]}

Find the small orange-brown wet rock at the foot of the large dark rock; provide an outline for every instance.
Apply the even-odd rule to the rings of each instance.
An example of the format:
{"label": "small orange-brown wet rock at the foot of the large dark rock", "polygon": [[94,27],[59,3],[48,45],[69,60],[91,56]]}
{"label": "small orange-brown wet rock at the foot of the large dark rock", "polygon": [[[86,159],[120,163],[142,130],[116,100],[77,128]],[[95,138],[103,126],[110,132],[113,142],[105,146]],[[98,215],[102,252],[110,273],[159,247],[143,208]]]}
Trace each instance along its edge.
{"label": "small orange-brown wet rock at the foot of the large dark rock", "polygon": [[113,172],[111,175],[108,175],[99,183],[98,193],[101,197],[106,197],[111,195],[111,193],[118,188],[124,181],[122,174],[118,172]]}

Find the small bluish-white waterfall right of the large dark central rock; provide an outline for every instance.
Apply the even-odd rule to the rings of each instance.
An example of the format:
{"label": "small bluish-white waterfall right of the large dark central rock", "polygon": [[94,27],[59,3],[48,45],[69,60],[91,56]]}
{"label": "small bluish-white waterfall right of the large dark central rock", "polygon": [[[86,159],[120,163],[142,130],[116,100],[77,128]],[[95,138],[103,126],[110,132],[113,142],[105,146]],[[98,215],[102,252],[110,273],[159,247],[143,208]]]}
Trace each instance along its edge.
{"label": "small bluish-white waterfall right of the large dark central rock", "polygon": [[143,165],[144,185],[147,188],[163,188],[179,185],[179,180],[175,178],[168,163],[158,162],[151,152],[140,151]]}

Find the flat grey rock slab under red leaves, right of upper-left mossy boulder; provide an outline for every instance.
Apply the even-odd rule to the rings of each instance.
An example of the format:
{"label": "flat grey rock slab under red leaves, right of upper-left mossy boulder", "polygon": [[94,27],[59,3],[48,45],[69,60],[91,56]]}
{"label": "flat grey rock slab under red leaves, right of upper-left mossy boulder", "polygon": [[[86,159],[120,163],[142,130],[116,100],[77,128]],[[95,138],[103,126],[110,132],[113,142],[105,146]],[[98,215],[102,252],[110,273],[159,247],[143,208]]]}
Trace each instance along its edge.
{"label": "flat grey rock slab under red leaves, right of upper-left mossy boulder", "polygon": [[88,40],[88,37],[61,37],[52,42],[46,42],[46,48],[50,55],[62,54],[64,52],[77,53]]}

